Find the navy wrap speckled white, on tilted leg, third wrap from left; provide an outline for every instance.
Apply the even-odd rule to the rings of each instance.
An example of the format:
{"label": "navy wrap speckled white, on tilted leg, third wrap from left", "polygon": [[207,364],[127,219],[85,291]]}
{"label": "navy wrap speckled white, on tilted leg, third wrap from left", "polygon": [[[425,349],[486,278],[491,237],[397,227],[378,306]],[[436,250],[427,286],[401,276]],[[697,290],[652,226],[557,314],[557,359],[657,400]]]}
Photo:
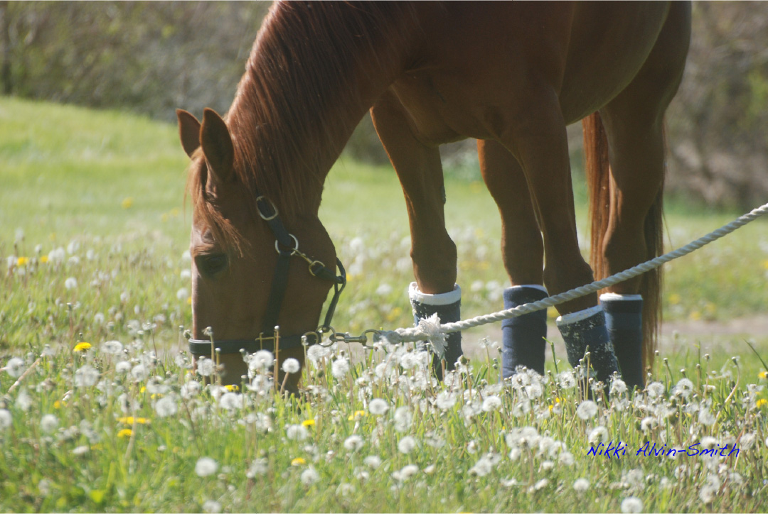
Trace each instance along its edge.
{"label": "navy wrap speckled white, on tilted leg, third wrap from left", "polygon": [[[571,321],[573,320],[573,321]],[[589,347],[590,364],[598,380],[607,384],[618,371],[616,355],[608,338],[605,315],[601,307],[593,307],[558,318],[558,328],[568,351],[568,362],[576,367]]]}

